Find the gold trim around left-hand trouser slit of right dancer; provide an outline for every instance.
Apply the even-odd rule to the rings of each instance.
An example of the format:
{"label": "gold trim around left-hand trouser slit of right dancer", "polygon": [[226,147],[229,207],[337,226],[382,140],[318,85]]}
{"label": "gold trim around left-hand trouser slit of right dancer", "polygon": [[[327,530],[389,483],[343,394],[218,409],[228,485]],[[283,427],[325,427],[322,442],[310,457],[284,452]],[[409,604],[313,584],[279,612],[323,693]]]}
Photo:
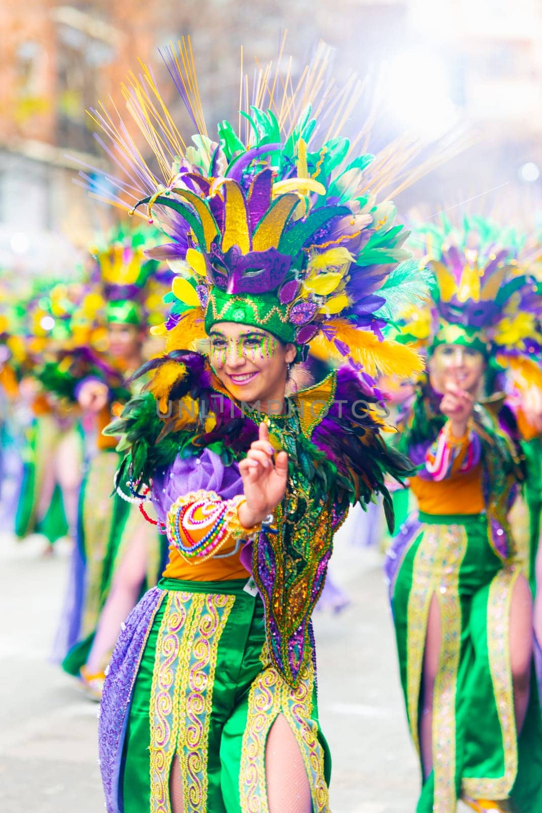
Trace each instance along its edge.
{"label": "gold trim around left-hand trouser slit of right dancer", "polygon": [[433,699],[434,813],[448,813],[456,805],[455,696],[462,624],[458,579],[466,545],[466,530],[462,525],[427,525],[424,528],[414,556],[407,609],[407,711],[410,734],[418,754],[419,691],[427,618],[433,595],[439,602],[441,628],[444,631]]}

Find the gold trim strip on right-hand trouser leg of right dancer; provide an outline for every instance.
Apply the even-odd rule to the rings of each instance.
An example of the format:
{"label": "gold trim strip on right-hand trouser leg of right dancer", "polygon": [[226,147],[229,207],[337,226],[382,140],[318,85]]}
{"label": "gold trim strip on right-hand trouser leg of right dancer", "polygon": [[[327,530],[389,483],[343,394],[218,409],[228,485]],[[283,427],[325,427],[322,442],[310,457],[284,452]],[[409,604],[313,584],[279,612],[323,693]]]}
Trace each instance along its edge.
{"label": "gold trim strip on right-hand trouser leg of right dancer", "polygon": [[462,789],[475,798],[505,799],[518,773],[518,737],[514,713],[514,688],[510,666],[509,619],[514,585],[521,570],[505,567],[492,580],[488,595],[488,658],[502,733],[503,776],[462,781]]}

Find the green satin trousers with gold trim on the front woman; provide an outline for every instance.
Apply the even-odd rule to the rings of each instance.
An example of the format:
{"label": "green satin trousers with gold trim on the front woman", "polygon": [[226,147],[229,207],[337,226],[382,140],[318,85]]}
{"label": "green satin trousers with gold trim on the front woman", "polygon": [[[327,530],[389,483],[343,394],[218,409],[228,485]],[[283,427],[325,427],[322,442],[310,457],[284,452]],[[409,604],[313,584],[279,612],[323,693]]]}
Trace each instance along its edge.
{"label": "green satin trousers with gold trim on the front woman", "polygon": [[[263,606],[245,581],[163,579],[132,695],[121,783],[124,813],[169,811],[180,761],[184,813],[267,811],[265,746],[283,714],[300,747],[314,813],[327,813],[331,762],[314,667],[297,689],[266,654]],[[220,592],[218,592],[220,591]]]}

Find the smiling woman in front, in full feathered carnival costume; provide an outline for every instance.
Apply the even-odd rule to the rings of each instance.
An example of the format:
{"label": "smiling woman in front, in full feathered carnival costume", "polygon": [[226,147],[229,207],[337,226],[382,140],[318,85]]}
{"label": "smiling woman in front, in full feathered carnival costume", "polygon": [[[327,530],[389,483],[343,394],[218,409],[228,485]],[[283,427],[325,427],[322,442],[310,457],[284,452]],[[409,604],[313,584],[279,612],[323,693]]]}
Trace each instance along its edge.
{"label": "smiling woman in front, in full feathered carnival costume", "polygon": [[[304,75],[307,107],[291,122],[281,112],[296,109],[288,80],[281,102],[260,74],[245,137],[223,121],[212,142],[188,45],[181,54],[165,59],[185,102],[193,91],[195,146],[180,139],[146,68],[126,89],[133,133],[145,133],[163,180],[128,128],[99,116],[110,153],[123,167],[132,159],[138,206],[170,238],[150,256],[178,272],[168,352],[143,367],[155,371],[148,392],[107,429],[128,452],[119,480],[135,497],[150,487],[170,558],[129,615],[106,678],[106,807],[327,813],[310,615],[350,501],[382,493],[391,520],[384,473],[410,472],[381,437],[369,376],[419,369],[413,351],[371,330],[409,256],[405,232],[390,202],[363,191],[371,158],[347,159],[333,126],[327,141],[317,136],[329,128],[310,102],[330,121],[356,101],[352,87],[314,99],[325,63]],[[288,369],[311,342],[343,366],[285,396]]]}

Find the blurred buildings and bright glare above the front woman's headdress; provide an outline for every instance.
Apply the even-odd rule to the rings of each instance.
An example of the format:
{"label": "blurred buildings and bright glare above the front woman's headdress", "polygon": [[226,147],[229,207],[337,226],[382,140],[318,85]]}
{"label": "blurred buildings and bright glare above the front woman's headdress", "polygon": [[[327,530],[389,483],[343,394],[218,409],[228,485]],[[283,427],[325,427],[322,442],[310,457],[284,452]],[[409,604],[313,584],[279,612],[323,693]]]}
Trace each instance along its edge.
{"label": "blurred buildings and bright glare above the front woman's headdress", "polygon": [[3,3],[0,26],[0,265],[15,254],[39,271],[111,220],[73,183],[69,156],[105,166],[85,110],[110,94],[122,108],[137,59],[159,78],[156,47],[183,34],[210,123],[236,106],[241,45],[245,68],[265,63],[288,28],[294,73],[319,37],[340,75],[387,72],[390,128],[440,126],[451,107],[478,128],[479,146],[410,190],[409,205],[540,184],[521,171],[542,167],[542,0],[33,0]]}

